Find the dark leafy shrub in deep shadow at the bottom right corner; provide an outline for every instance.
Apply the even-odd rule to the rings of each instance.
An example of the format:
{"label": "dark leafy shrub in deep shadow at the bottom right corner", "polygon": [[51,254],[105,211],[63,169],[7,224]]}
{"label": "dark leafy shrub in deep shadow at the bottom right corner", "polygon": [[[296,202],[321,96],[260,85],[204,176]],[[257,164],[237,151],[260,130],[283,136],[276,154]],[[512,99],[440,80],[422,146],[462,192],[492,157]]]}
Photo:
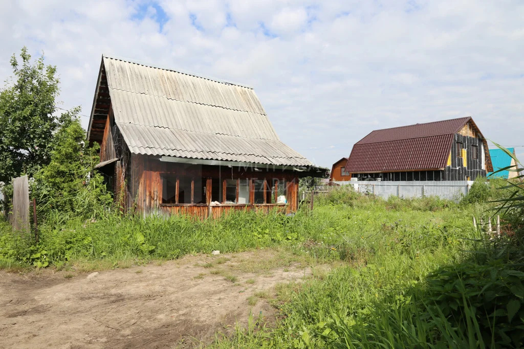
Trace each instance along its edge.
{"label": "dark leafy shrub in deep shadow at the bottom right corner", "polygon": [[523,278],[521,264],[466,262],[430,275],[423,301],[464,337],[474,332],[489,347],[522,347]]}

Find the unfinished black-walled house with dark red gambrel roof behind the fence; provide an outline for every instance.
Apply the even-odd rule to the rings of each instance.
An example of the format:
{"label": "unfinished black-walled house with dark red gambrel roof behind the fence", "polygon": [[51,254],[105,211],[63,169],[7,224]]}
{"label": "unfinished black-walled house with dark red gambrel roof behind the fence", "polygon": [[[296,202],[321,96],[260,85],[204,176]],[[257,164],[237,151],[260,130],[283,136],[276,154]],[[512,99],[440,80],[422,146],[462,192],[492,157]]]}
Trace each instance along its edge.
{"label": "unfinished black-walled house with dark red gambrel roof behind the fence", "polygon": [[355,143],[346,172],[359,180],[473,181],[493,171],[471,117],[376,130]]}

